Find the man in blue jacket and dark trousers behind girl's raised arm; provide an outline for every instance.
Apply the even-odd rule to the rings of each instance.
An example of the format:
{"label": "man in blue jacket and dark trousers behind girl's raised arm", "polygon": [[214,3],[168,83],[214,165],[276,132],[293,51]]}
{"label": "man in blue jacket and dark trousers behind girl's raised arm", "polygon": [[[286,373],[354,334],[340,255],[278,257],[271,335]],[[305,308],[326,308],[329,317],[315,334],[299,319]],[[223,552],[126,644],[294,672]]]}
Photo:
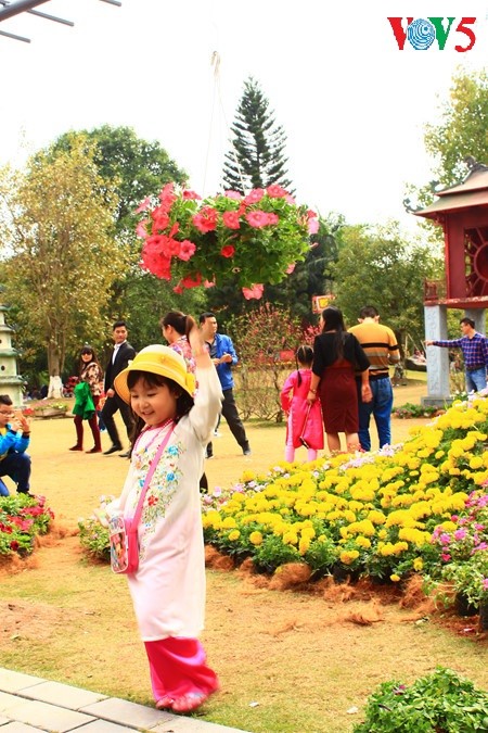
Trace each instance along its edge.
{"label": "man in blue jacket and dark trousers behind girl's raised arm", "polygon": [[[242,452],[245,456],[251,455],[249,441],[247,440],[245,428],[239,417],[237,407],[234,399],[234,379],[232,377],[232,366],[237,364],[237,354],[235,353],[232,339],[224,333],[217,333],[217,318],[214,313],[202,313],[200,316],[200,327],[202,336],[208,346],[210,358],[217,369],[220,379],[220,386],[223,393],[222,415],[226,418],[229,428]],[[214,448],[211,443],[207,445],[207,458],[211,458]]]}

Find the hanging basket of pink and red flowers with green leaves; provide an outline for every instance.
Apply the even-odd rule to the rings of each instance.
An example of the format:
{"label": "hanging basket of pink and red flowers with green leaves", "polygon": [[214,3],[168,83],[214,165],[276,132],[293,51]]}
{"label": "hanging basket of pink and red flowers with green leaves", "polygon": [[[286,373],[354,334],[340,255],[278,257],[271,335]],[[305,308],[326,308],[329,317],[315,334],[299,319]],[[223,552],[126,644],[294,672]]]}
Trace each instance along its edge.
{"label": "hanging basket of pink and red flowers with green leaves", "polygon": [[175,292],[233,277],[247,299],[260,298],[265,283],[275,285],[292,273],[319,228],[317,214],[280,186],[202,200],[167,184],[156,205],[147,198],[137,212],[144,212],[137,227],[144,239],[144,269],[175,281]]}

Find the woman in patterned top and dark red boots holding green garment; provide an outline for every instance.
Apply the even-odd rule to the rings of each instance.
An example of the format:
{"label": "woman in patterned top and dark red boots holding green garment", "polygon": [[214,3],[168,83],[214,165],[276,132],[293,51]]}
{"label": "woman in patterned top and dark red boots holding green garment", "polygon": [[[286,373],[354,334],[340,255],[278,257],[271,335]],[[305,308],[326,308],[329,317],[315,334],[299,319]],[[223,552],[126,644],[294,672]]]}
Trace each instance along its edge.
{"label": "woman in patterned top and dark red boots holding green garment", "polygon": [[[100,441],[100,428],[97,416],[97,408],[100,402],[100,395],[103,391],[103,371],[99,364],[94,349],[85,345],[79,355],[79,383],[75,387],[76,403],[73,409],[75,414],[76,443],[69,451],[84,450],[84,417],[87,416],[88,425],[93,435],[93,447],[87,453],[101,453],[102,444]],[[79,384],[86,384],[86,391],[80,392]],[[91,412],[87,413],[87,400],[91,396],[93,405]],[[90,403],[91,404],[91,403]],[[91,417],[88,415],[91,414]]]}

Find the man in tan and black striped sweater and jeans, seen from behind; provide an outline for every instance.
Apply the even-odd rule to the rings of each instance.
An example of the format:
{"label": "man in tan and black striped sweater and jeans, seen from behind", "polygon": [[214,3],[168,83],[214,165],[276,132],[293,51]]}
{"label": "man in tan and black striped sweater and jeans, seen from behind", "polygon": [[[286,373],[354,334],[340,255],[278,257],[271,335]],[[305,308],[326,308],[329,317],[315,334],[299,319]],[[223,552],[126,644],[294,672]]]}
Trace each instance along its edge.
{"label": "man in tan and black striped sweater and jeans, seen from behind", "polygon": [[357,379],[359,401],[359,442],[363,451],[371,451],[370,419],[374,417],[380,447],[391,443],[393,388],[389,365],[400,362],[395,333],[380,324],[380,314],[374,305],[361,308],[358,326],[349,329],[356,336],[370,359],[371,402],[361,400],[361,380]]}

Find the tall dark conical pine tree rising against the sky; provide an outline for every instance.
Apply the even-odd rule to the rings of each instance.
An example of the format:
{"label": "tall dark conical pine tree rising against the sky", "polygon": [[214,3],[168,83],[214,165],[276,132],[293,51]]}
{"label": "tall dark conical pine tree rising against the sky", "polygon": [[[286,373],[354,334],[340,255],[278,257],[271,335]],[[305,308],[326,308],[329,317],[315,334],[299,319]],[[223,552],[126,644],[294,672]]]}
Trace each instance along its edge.
{"label": "tall dark conical pine tree rising against the sky", "polygon": [[278,184],[290,190],[292,182],[284,155],[286,135],[277,125],[268,100],[252,77],[244,83],[231,131],[232,147],[223,163],[224,188],[244,193]]}

